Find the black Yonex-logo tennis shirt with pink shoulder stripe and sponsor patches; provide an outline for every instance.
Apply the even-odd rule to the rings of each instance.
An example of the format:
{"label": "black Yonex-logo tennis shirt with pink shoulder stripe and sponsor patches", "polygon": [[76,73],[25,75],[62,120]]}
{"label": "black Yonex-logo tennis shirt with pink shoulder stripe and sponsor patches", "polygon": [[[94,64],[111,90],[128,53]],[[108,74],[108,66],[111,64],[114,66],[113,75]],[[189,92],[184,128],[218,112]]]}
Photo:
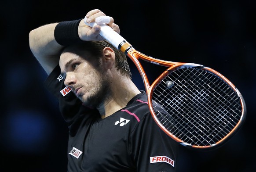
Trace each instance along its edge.
{"label": "black Yonex-logo tennis shirt with pink shoulder stripe and sponsor patches", "polygon": [[45,85],[68,123],[68,172],[175,172],[178,143],[154,122],[144,91],[102,119],[63,81],[57,67]]}

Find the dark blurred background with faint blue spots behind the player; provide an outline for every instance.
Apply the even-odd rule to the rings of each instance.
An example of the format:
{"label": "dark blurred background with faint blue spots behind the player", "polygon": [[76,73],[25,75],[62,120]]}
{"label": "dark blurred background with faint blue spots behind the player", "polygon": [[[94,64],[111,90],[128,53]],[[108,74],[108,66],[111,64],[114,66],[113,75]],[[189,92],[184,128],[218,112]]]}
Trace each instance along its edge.
{"label": "dark blurred background with faint blue spots behind the player", "polygon": [[[140,52],[213,68],[245,98],[247,118],[239,132],[214,151],[180,147],[177,172],[256,171],[255,1],[9,0],[0,8],[1,172],[66,171],[68,130],[58,102],[43,87],[47,75],[29,50],[28,35],[40,25],[84,18],[95,8],[112,16],[121,36]],[[146,69],[153,79],[154,68]],[[144,89],[132,63],[131,70]]]}

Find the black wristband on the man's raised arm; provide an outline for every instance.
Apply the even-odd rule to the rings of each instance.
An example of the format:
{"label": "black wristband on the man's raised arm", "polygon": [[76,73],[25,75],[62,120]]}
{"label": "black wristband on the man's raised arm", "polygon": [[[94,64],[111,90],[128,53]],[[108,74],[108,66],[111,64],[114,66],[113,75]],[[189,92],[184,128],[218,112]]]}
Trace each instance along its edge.
{"label": "black wristband on the man's raised arm", "polygon": [[81,19],[74,21],[62,21],[56,25],[54,38],[60,45],[68,46],[83,42],[78,36],[78,25]]}

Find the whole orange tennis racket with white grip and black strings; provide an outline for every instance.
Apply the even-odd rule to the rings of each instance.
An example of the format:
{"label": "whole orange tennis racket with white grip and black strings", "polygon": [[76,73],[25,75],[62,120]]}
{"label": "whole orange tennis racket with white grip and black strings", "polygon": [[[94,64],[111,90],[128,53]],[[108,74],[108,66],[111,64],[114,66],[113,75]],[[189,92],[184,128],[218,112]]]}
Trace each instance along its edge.
{"label": "whole orange tennis racket with white grip and black strings", "polygon": [[[93,27],[96,23],[85,24]],[[245,101],[238,89],[215,70],[194,63],[164,61],[135,50],[105,23],[100,35],[134,62],[143,79],[148,105],[157,125],[189,148],[216,148],[245,120]],[[139,59],[168,67],[150,85]]]}

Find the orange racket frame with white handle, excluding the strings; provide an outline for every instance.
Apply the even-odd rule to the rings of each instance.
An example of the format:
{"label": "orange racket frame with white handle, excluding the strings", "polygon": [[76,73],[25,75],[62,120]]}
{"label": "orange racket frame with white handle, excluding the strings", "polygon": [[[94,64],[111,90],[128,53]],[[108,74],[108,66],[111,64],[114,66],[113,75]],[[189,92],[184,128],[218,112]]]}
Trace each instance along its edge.
{"label": "orange racket frame with white handle, excluding the strings", "polygon": [[[89,25],[91,27],[94,27],[95,25],[97,25],[95,22],[87,23],[86,19],[87,18],[84,19],[84,22],[85,22],[86,25]],[[128,57],[130,57],[130,59],[133,61],[133,63],[135,64],[135,66],[139,70],[139,73],[140,73],[140,75],[143,79],[143,83],[144,83],[146,93],[147,93],[147,96],[148,96],[148,104],[149,104],[150,113],[151,113],[152,117],[154,118],[154,121],[157,123],[157,125],[168,136],[172,137],[172,139],[176,140],[177,142],[181,143],[183,146],[186,146],[186,147],[201,148],[201,149],[212,148],[212,147],[216,147],[216,145],[221,145],[221,143],[223,143],[224,140],[227,140],[227,138],[230,138],[230,136],[233,135],[235,133],[235,131],[237,131],[241,127],[241,124],[245,120],[245,114],[246,114],[245,101],[242,98],[241,93],[238,91],[238,89],[226,77],[221,75],[219,72],[216,72],[215,70],[213,70],[211,68],[208,68],[208,67],[205,67],[203,65],[198,65],[198,64],[194,64],[194,63],[181,63],[181,62],[164,61],[164,60],[161,60],[161,59],[157,59],[157,58],[147,56],[147,55],[135,50],[130,43],[128,43],[117,32],[114,32],[113,29],[110,28],[105,23],[100,24],[100,26],[101,26],[100,35],[103,38],[105,38],[108,42],[110,42],[114,47],[121,50]],[[142,59],[144,61],[150,62],[150,63],[155,64],[155,65],[165,66],[168,69],[166,69],[165,72],[163,72],[150,86],[149,80],[146,76],[146,72],[144,71],[141,63],[139,62],[139,59]],[[165,126],[163,126],[161,124],[161,122],[159,122],[158,118],[156,117],[157,115],[154,112],[153,104],[152,104],[152,94],[154,92],[154,88],[158,85],[158,83],[161,81],[162,78],[165,78],[165,76],[168,75],[170,72],[172,72],[172,71],[174,71],[178,68],[181,68],[182,66],[200,67],[202,70],[206,70],[206,71],[209,71],[209,72],[213,73],[214,75],[217,75],[219,78],[223,79],[230,86],[230,88],[233,89],[234,92],[237,93],[238,97],[240,98],[240,103],[241,103],[241,117],[240,117],[240,119],[238,120],[238,122],[236,123],[234,128],[232,130],[230,130],[229,133],[227,133],[226,136],[224,136],[222,139],[220,139],[219,141],[217,141],[214,144],[199,146],[199,145],[192,145],[190,143],[186,143],[183,140],[179,139],[174,134],[172,134],[168,129],[166,129]]]}

